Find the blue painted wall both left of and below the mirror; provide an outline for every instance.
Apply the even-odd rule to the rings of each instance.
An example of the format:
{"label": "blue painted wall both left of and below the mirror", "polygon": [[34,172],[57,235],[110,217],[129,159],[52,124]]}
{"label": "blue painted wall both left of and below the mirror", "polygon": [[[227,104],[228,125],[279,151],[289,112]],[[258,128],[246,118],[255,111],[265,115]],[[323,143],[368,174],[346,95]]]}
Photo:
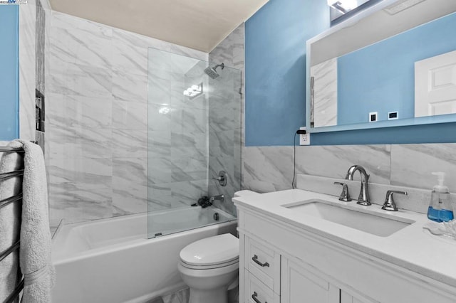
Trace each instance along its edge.
{"label": "blue painted wall both left of and below the mirror", "polygon": [[[269,0],[246,22],[246,146],[293,145],[305,125],[306,40],[329,27],[328,15],[323,0]],[[311,144],[456,142],[455,129],[446,123],[318,133]]]}

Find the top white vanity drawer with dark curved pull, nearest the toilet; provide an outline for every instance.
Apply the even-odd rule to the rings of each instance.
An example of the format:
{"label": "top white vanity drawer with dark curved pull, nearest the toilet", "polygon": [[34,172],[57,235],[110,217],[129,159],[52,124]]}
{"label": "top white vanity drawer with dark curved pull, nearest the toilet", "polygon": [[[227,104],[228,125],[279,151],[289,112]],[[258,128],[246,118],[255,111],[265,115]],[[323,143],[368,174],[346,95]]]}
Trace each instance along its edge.
{"label": "top white vanity drawer with dark curved pull, nearest the toilet", "polygon": [[267,287],[280,293],[280,254],[257,240],[246,237],[245,267]]}

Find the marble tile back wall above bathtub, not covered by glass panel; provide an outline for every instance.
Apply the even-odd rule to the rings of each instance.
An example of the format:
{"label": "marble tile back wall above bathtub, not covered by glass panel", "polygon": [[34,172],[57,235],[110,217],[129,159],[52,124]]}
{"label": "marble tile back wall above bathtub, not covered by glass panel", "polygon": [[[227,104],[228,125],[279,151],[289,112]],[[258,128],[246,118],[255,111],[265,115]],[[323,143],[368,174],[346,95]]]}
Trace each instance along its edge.
{"label": "marble tile back wall above bathtub, not covered by glass panel", "polygon": [[46,28],[51,225],[147,211],[147,48],[207,53],[56,11]]}

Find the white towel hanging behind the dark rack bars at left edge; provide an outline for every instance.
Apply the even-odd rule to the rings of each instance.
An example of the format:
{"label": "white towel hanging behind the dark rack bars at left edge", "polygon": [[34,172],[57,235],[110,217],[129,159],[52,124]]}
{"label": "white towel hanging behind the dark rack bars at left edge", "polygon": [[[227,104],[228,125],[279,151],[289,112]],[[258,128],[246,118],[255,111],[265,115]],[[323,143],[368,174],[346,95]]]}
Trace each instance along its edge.
{"label": "white towel hanging behind the dark rack bars at left edge", "polygon": [[[22,147],[19,142],[1,142],[1,146],[12,145]],[[0,174],[16,171],[23,168],[21,154],[0,153]],[[0,200],[10,198],[21,193],[21,177],[9,178],[0,181]],[[19,203],[10,203],[0,209],[0,253],[7,250],[19,240]],[[19,266],[19,250],[12,252],[0,262],[0,302],[16,288],[17,268]]]}

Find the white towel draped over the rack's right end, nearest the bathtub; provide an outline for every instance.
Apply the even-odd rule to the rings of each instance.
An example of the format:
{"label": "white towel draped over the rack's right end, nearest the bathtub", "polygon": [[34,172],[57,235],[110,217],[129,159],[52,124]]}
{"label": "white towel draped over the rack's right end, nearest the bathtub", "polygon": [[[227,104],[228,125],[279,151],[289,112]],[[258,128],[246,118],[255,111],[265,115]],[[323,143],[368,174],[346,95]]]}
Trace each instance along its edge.
{"label": "white towel draped over the rack's right end, nearest the bathtub", "polygon": [[24,303],[51,302],[55,270],[51,262],[48,191],[43,151],[24,140],[21,248],[19,262],[24,274]]}

